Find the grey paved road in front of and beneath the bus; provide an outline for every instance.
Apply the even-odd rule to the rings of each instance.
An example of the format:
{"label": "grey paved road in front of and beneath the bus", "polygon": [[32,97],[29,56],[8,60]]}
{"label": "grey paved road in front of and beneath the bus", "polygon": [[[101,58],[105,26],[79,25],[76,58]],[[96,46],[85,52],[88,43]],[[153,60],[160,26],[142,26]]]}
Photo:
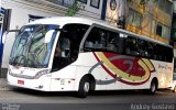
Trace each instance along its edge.
{"label": "grey paved road in front of and beneath the bus", "polygon": [[75,92],[40,92],[3,85],[0,103],[0,110],[176,110],[176,94],[169,90],[160,90],[154,96],[140,90],[97,91],[81,99]]}

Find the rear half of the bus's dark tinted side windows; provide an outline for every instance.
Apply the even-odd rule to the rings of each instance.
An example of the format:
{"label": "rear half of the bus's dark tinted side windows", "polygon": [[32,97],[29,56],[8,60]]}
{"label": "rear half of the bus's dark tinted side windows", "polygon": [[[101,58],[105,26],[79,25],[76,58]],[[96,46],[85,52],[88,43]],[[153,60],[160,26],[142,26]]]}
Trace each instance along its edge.
{"label": "rear half of the bus's dark tinted side windows", "polygon": [[155,61],[173,62],[173,48],[148,42],[145,40],[128,36],[125,40],[125,54]]}

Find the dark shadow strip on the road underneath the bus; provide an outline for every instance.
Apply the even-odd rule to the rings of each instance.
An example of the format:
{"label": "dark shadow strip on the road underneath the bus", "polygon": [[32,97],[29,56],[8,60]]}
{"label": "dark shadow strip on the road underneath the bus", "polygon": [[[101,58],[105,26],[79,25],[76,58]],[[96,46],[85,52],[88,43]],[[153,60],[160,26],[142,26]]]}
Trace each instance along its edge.
{"label": "dark shadow strip on the road underneath the bus", "polygon": [[[77,92],[72,91],[37,91],[24,88],[12,88],[14,92],[32,95],[37,97],[77,97]],[[155,96],[173,94],[170,90],[158,90]],[[110,90],[110,91],[94,91],[89,96],[148,96],[146,90]],[[173,94],[174,95],[174,94]]]}

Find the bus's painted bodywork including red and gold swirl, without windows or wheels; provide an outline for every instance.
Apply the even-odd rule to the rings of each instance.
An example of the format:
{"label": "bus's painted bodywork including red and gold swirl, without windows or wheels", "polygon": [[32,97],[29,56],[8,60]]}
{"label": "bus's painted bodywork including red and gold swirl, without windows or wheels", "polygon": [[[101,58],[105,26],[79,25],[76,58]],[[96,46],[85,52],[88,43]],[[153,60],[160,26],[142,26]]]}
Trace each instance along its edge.
{"label": "bus's painted bodywork including red and gold swirl, without windows or wheels", "polygon": [[[58,21],[57,18],[53,20],[59,23],[59,19]],[[70,20],[70,18],[67,19]],[[50,24],[52,22],[50,20],[52,19],[35,21],[31,24],[33,25],[44,21],[45,24]],[[63,21],[64,19],[61,20]],[[79,21],[77,20],[79,19],[74,19],[74,21],[69,21],[68,24],[72,22],[78,23]],[[90,24],[94,23],[92,21],[87,22]],[[63,28],[64,24],[67,24],[66,20],[65,22],[58,25],[61,25],[59,28]],[[80,21],[80,24],[85,24],[84,20]],[[107,29],[109,28],[108,25],[103,26],[107,26]],[[123,38],[128,37],[128,32],[119,29],[117,30],[118,33],[122,32],[123,35],[121,33],[120,34]],[[136,36],[139,40],[141,37],[140,35],[132,34],[131,32],[129,33],[129,36]],[[158,88],[167,88],[172,82],[173,63],[163,62],[160,59],[155,61],[153,57],[144,58],[142,56],[130,55],[124,52],[118,54],[114,52],[106,52],[102,50],[95,51],[94,47],[90,51],[82,51],[84,47],[82,50],[81,47],[79,47],[79,50],[81,51],[77,52],[78,56],[76,61],[72,62],[70,64],[66,65],[65,67],[56,72],[52,72],[54,53],[56,50],[57,40],[59,40],[59,35],[61,33],[57,32],[54,45],[52,47],[48,67],[36,69],[21,67],[23,69],[12,69],[14,67],[9,66],[9,84],[16,87],[43,91],[78,91],[80,80],[86,75],[91,75],[95,78],[95,90],[150,89],[151,82],[154,78],[156,78],[158,81]],[[84,37],[84,40],[86,40],[86,37]],[[155,44],[154,41],[150,41],[148,38],[146,38],[146,41]],[[84,46],[84,44],[86,45],[85,41],[81,42],[81,46]],[[156,42],[156,44],[160,43]],[[164,47],[169,47],[164,44],[161,45],[163,45]],[[37,79],[28,79],[25,77],[19,77],[23,70],[23,75],[34,77],[37,73],[44,69],[50,69],[50,73],[47,73],[46,75],[42,75]],[[11,73],[19,74],[19,76],[13,76],[11,75]]]}

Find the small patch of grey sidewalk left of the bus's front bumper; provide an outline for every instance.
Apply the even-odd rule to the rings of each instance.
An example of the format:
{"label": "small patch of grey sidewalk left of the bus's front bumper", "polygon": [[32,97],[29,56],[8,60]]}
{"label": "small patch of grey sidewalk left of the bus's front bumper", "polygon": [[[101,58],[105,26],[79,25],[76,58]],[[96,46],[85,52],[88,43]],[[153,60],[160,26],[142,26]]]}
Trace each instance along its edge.
{"label": "small patch of grey sidewalk left of the bus's front bumper", "polygon": [[0,78],[0,91],[2,90],[10,90],[10,86],[6,78]]}

